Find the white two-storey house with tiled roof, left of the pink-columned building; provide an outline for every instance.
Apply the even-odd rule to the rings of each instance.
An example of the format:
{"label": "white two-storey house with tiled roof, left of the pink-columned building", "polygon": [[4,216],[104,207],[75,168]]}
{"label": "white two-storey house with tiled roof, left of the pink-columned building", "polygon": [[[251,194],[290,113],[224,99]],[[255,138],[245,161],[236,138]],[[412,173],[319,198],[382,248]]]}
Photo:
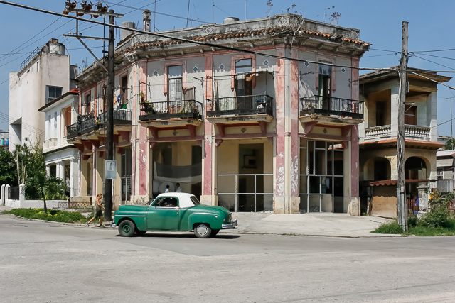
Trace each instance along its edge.
{"label": "white two-storey house with tiled roof, left of the pink-columned building", "polygon": [[67,141],[67,129],[77,119],[79,89],[72,89],[42,106],[45,114],[43,155],[48,176],[59,177],[68,185],[70,197],[78,194],[79,153]]}

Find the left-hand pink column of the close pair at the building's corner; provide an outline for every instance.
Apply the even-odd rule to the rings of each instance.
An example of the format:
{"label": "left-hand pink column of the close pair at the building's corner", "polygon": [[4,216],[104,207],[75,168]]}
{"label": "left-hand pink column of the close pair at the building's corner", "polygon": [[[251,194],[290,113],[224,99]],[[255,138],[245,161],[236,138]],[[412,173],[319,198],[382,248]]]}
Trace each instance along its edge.
{"label": "left-hand pink column of the close pair at the building's corner", "polygon": [[[284,46],[277,47],[277,55],[284,56]],[[285,150],[284,150],[284,136],[285,136],[285,77],[286,77],[286,60],[277,59],[277,77],[275,77],[275,102],[277,107],[277,139],[275,141],[275,189],[274,197],[284,197],[284,179],[285,179]],[[276,200],[276,199],[275,199]],[[277,206],[277,205],[276,205]]]}

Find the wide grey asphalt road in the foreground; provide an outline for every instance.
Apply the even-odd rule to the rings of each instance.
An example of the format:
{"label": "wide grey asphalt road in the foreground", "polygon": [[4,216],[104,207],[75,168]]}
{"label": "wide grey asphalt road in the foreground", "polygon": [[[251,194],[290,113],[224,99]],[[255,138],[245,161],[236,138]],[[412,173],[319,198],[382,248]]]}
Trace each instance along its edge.
{"label": "wide grey asphalt road in the foreground", "polygon": [[146,233],[0,215],[0,302],[455,302],[455,237]]}

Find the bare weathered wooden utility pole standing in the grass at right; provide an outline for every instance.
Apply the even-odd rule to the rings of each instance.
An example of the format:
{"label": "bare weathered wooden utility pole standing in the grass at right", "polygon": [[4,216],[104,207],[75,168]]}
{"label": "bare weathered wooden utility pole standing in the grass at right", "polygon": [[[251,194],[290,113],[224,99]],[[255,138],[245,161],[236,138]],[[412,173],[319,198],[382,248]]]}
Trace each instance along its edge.
{"label": "bare weathered wooden utility pole standing in the grass at right", "polygon": [[405,187],[405,101],[407,91],[407,21],[402,23],[402,48],[400,60],[400,100],[398,101],[397,136],[397,207],[398,224],[407,231],[407,203]]}

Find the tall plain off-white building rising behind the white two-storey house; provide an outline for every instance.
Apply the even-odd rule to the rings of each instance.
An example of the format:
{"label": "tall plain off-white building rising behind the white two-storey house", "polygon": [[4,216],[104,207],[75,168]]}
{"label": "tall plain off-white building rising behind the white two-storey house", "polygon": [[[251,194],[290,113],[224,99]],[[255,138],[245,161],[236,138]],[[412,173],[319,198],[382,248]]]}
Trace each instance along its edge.
{"label": "tall plain off-white building rising behind the white two-storey house", "polygon": [[65,45],[51,39],[36,48],[21,64],[19,72],[9,74],[9,150],[16,144],[45,140],[45,116],[38,109],[75,88],[71,79],[77,66],[70,65]]}

